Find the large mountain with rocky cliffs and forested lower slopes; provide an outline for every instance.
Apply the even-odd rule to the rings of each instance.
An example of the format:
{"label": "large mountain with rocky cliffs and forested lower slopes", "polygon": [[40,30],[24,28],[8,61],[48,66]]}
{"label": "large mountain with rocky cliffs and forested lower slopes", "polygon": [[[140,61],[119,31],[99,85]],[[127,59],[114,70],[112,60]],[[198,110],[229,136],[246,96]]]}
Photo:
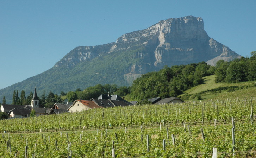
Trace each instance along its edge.
{"label": "large mountain with rocky cliffs and forested lower slopes", "polygon": [[14,90],[26,94],[36,86],[39,94],[59,94],[95,84],[131,85],[135,78],[164,65],[205,61],[231,61],[241,56],[210,38],[200,17],[187,16],[159,21],[144,30],[126,33],[116,42],[79,46],[42,74],[0,90],[11,101]]}

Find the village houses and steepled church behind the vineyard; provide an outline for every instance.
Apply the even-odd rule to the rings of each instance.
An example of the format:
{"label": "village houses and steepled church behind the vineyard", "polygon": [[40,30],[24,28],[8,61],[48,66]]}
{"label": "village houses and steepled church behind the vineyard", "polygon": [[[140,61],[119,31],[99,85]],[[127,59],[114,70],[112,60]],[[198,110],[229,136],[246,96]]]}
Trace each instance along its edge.
{"label": "village houses and steepled church behind the vineyard", "polygon": [[[170,103],[182,103],[183,100],[177,97],[164,98],[156,97],[148,99],[152,104],[170,104]],[[62,103],[55,103],[51,108],[39,107],[39,98],[37,97],[36,88],[33,93],[31,105],[11,105],[2,104],[1,112],[5,112],[8,115],[8,119],[14,118],[27,118],[30,117],[31,112],[34,111],[35,116],[61,114],[61,113],[74,113],[81,112],[83,110],[95,109],[95,108],[110,108],[116,106],[132,106],[136,105],[137,101],[126,101],[118,95],[106,95],[101,94],[98,98],[92,98],[90,100],[75,100],[74,102],[68,102],[67,99]]]}

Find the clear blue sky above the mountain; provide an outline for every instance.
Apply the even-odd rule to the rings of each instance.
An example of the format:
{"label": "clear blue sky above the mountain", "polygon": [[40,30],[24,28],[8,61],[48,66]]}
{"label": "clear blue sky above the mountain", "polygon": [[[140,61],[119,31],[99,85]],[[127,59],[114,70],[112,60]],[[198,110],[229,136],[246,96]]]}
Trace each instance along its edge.
{"label": "clear blue sky above the mountain", "polygon": [[0,89],[40,74],[76,46],[115,42],[168,18],[202,17],[207,34],[256,51],[256,0],[0,0]]}

